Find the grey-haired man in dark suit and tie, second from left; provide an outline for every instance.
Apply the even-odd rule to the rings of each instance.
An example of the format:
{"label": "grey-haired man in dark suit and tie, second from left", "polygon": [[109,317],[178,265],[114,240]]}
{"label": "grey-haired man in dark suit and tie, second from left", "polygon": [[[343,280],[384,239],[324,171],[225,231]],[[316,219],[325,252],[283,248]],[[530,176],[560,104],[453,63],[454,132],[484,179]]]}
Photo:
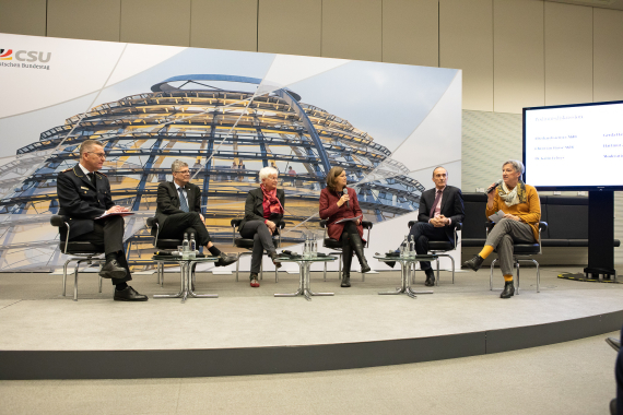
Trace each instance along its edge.
{"label": "grey-haired man in dark suit and tie, second from left", "polygon": [[[237,261],[236,256],[223,253],[212,244],[201,214],[201,189],[190,183],[188,164],[176,159],[171,165],[173,181],[157,187],[156,220],[161,238],[181,238],[184,233],[195,234],[197,246],[204,246],[219,257],[216,266],[226,266]],[[155,229],[152,229],[155,233]],[[155,234],[154,234],[155,235]]]}

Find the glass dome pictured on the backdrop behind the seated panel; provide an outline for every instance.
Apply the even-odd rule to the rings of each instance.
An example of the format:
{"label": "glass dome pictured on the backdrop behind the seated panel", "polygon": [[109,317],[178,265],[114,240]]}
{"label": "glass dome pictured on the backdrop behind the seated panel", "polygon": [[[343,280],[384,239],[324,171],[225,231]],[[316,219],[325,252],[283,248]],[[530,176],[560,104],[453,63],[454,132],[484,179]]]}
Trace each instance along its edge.
{"label": "glass dome pictured on the backdrop behind the seated panel", "polygon": [[[137,214],[126,218],[128,259],[151,268],[152,237],[145,221],[156,209],[156,189],[172,180],[171,164],[188,163],[202,189],[202,209],[218,244],[232,244],[232,218],[244,215],[258,171],[273,166],[285,190],[285,244],[318,232],[318,199],[333,166],[346,170],[366,220],[381,222],[418,210],[424,187],[391,152],[348,120],[305,103],[289,88],[255,95],[260,79],[189,74],[169,78],[150,92],[122,97],[70,117],[17,150],[1,167],[0,270],[55,269],[63,262],[56,228],[56,177],[79,161],[87,139],[105,142],[102,171],[113,199]],[[20,176],[20,161],[38,163]],[[371,180],[371,177],[374,180]],[[320,235],[320,234],[318,234]]]}

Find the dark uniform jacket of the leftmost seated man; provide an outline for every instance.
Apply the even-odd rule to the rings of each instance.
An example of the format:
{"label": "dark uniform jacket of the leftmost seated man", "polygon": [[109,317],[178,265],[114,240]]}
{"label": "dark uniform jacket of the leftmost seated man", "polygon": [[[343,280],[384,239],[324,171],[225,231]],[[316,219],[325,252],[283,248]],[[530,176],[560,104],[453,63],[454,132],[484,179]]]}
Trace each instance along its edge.
{"label": "dark uniform jacket of the leftmost seated man", "polygon": [[[115,205],[106,175],[95,171],[93,186],[78,164],[58,174],[56,191],[58,213],[69,217],[70,239],[93,232],[93,220]],[[60,236],[64,239],[67,230],[61,228]]]}

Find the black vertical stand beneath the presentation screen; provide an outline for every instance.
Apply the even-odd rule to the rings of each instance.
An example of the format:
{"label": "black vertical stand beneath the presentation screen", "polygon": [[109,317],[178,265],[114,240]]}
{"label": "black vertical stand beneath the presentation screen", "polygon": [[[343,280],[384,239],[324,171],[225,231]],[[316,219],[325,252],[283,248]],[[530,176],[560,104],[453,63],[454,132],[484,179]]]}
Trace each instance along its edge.
{"label": "black vertical stand beneath the presentation screen", "polygon": [[[573,226],[573,224],[569,224]],[[588,192],[588,266],[585,276],[599,280],[615,276],[614,271],[614,192]]]}

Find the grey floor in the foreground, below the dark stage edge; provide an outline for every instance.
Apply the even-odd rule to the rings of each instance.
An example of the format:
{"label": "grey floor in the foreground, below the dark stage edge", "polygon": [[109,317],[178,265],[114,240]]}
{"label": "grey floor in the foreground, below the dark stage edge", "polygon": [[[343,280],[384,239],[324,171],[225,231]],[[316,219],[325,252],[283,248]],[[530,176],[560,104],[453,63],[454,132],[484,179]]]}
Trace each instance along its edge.
{"label": "grey floor in the foreground, below the dark stage edge", "polygon": [[458,359],[293,375],[0,381],[0,414],[608,414],[600,336]]}

